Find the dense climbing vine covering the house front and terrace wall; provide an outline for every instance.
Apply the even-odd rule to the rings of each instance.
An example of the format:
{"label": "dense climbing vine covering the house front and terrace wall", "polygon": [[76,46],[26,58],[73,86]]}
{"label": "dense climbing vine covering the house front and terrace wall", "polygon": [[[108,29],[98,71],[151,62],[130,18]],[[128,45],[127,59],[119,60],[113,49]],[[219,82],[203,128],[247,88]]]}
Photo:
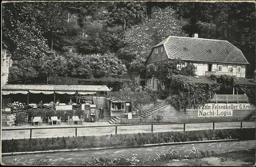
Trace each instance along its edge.
{"label": "dense climbing vine covering the house front and terrace wall", "polygon": [[[177,64],[181,65],[181,69],[178,69]],[[157,69],[154,66],[157,66]],[[211,75],[210,79],[217,81],[216,83],[193,83],[185,76],[196,75],[194,65],[179,59],[163,60],[150,64],[146,70],[146,77],[155,77],[162,81],[165,85],[165,91],[169,88],[175,90],[175,93],[171,91],[171,95],[167,97],[166,101],[180,110],[186,111],[187,108],[202,106],[208,103],[220,88],[232,88],[233,86],[246,93],[249,103],[255,105],[254,89],[236,85],[234,82],[236,76]]]}

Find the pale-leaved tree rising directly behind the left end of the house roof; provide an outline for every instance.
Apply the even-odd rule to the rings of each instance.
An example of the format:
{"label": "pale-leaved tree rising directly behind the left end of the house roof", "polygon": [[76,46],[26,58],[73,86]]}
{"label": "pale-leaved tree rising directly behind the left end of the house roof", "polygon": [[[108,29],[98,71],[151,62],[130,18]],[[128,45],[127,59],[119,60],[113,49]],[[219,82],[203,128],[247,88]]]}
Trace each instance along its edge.
{"label": "pale-leaved tree rising directly behind the left end of the house roof", "polygon": [[169,35],[186,36],[172,8],[153,8],[152,11],[151,19],[125,30],[122,35],[124,46],[119,54],[130,61],[129,69],[134,74],[143,71],[155,44]]}

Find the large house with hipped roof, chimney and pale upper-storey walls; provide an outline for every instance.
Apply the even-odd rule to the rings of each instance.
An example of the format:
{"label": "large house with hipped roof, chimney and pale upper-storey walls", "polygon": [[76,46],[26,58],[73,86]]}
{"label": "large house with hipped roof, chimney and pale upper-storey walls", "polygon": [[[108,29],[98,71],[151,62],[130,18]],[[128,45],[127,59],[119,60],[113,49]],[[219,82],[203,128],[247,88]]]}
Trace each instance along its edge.
{"label": "large house with hipped roof, chimney and pale upper-storey walls", "polygon": [[[226,40],[199,38],[198,34],[194,37],[169,36],[153,47],[146,67],[166,59],[193,63],[196,75],[201,78],[212,74],[232,75],[240,82],[247,82],[246,66],[249,63],[241,50]],[[177,64],[177,68],[181,69],[181,65]],[[146,80],[146,86],[154,90],[158,90],[158,84],[164,86],[156,77]]]}

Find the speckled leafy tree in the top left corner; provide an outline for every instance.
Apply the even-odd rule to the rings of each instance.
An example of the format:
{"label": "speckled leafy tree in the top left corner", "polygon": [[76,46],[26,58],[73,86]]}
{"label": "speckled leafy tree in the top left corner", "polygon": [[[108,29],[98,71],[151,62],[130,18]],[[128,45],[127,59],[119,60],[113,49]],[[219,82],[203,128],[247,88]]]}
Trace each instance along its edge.
{"label": "speckled leafy tree in the top left corner", "polygon": [[38,59],[48,53],[48,46],[34,17],[31,3],[3,4],[3,41],[12,60]]}

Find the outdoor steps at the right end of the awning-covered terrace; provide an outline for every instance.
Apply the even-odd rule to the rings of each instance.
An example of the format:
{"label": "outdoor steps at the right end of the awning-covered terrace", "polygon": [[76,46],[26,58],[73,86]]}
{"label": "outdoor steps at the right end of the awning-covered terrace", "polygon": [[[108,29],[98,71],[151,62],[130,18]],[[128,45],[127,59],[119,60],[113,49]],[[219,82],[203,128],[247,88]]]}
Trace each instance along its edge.
{"label": "outdoor steps at the right end of the awning-covered terrace", "polygon": [[[93,104],[97,104],[97,97],[93,97]],[[98,109],[100,108],[104,109],[104,118],[101,120],[99,119],[99,122],[108,122],[110,120],[110,112],[109,112],[109,108],[106,105],[106,99],[105,97],[98,97]]]}

